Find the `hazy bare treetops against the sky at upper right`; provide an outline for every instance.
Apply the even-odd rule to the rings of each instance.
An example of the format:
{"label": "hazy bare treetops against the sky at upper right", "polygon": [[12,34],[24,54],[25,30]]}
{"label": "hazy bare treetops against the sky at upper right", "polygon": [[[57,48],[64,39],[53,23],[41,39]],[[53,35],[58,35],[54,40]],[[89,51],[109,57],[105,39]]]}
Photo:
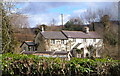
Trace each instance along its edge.
{"label": "hazy bare treetops against the sky at upper right", "polygon": [[87,9],[82,14],[83,19],[85,19],[86,23],[100,21],[100,18],[104,15],[108,15],[110,19],[114,20],[118,18],[118,3],[112,3],[110,7],[98,8],[98,9]]}

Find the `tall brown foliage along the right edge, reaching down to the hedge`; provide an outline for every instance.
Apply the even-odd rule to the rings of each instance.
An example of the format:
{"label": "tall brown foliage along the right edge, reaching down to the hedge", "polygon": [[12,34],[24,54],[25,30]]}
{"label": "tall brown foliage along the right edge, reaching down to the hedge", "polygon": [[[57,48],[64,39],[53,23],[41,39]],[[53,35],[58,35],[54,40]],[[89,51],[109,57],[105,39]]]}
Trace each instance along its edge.
{"label": "tall brown foliage along the right edge, reaching down to the hedge", "polygon": [[[116,21],[119,22],[119,21]],[[104,15],[101,17],[101,23],[103,25],[103,43],[104,48],[102,50],[102,57],[112,57],[114,59],[120,59],[118,54],[118,27],[119,24],[115,24],[110,20],[110,16]],[[101,31],[100,31],[101,32]]]}

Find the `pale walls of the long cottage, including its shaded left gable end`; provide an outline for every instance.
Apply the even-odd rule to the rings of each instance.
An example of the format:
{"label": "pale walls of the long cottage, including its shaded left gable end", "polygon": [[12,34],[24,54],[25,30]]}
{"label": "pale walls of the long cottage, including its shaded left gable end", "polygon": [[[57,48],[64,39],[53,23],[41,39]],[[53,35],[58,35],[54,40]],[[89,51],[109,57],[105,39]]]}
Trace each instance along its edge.
{"label": "pale walls of the long cottage, including its shaded left gable end", "polygon": [[[85,35],[90,36],[89,32],[85,33]],[[49,36],[51,37],[51,35]],[[78,54],[77,57],[86,57],[86,54],[91,56],[91,52],[87,48],[92,45],[95,49],[95,57],[100,57],[103,39],[96,38],[93,35],[91,38],[67,37],[66,39],[49,39],[45,38],[41,33],[38,33],[35,37],[35,44],[38,45],[37,51],[73,51],[74,49],[83,49],[82,54]]]}

